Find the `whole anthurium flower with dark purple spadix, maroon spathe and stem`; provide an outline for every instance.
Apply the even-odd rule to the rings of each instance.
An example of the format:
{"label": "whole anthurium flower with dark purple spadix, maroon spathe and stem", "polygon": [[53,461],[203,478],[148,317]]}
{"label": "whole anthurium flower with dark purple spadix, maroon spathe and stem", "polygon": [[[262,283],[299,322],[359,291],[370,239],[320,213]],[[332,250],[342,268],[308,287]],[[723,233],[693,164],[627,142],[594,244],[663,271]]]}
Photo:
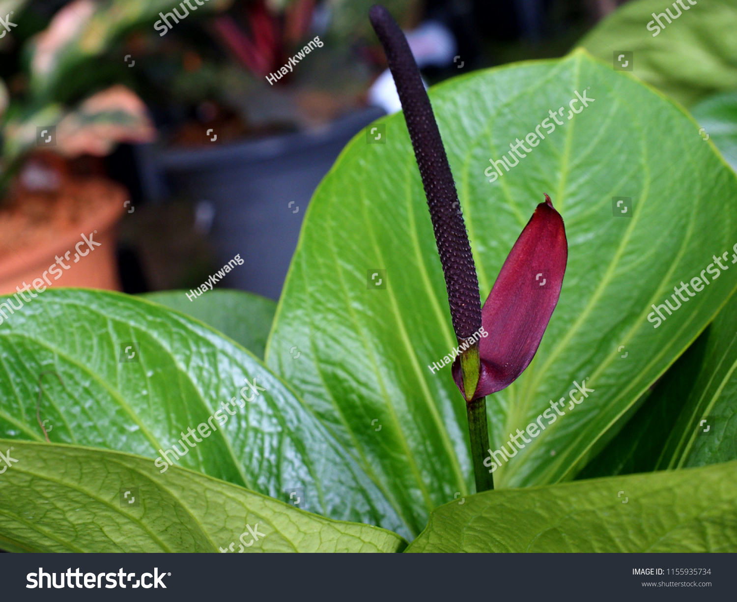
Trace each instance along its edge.
{"label": "whole anthurium flower with dark purple spadix, maroon spathe and stem", "polygon": [[368,16],[397,86],[433,222],[461,350],[452,373],[467,402],[476,491],[492,489],[491,476],[483,467],[489,445],[485,396],[511,385],[537,351],[563,283],[568,256],[565,226],[545,195],[545,203],[537,206],[514,243],[482,310],[466,225],[456,209],[458,193],[419,69],[388,10],[376,4]]}

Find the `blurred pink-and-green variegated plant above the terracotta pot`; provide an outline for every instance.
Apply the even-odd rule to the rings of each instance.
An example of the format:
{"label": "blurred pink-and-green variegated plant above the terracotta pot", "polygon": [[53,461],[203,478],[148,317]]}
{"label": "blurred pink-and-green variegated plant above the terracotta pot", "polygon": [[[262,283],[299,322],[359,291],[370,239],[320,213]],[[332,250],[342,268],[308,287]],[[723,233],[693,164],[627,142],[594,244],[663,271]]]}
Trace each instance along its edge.
{"label": "blurred pink-and-green variegated plant above the terracotta pot", "polygon": [[[212,0],[205,12],[230,4],[231,0]],[[96,85],[84,67],[85,61],[108,52],[134,28],[148,26],[159,12],[177,5],[173,0],[74,0],[57,11],[45,29],[24,41],[13,77],[27,80],[25,94],[11,98],[0,80],[0,197],[25,156],[39,146],[39,127],[56,128],[55,146],[49,150],[68,158],[107,155],[119,142],[155,138],[142,100],[121,84]],[[25,7],[24,0],[0,0],[0,13],[12,11],[16,21]],[[60,88],[69,88],[75,80],[94,93],[70,107],[60,102]],[[105,89],[99,91],[101,87]]]}

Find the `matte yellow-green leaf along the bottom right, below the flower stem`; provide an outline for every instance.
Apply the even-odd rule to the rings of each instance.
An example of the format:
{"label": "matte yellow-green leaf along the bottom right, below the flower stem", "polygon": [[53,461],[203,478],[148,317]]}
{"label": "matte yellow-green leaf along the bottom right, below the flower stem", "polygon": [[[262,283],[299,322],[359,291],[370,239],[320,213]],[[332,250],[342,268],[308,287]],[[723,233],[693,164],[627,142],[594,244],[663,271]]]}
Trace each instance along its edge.
{"label": "matte yellow-green leaf along the bottom right, below the flower stem", "polygon": [[438,508],[406,551],[737,552],[737,462],[486,491]]}

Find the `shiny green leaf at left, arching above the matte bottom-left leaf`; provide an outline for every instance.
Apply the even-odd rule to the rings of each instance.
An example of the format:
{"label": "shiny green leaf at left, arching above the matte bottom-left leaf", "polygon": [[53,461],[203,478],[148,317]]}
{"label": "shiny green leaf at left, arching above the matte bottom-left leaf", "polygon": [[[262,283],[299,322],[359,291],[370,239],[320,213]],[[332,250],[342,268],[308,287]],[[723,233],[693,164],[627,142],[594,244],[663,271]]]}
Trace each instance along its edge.
{"label": "shiny green leaf at left, arching above the matte bottom-left leaf", "polygon": [[[404,528],[290,388],[208,326],[118,293],[52,289],[20,309],[0,301],[16,306],[0,304],[0,437],[45,441],[45,424],[54,443],[150,458],[176,444],[188,449],[180,466],[284,500],[301,488],[301,508]],[[265,391],[242,389],[245,379]],[[244,407],[212,419],[232,398]],[[200,424],[217,431],[203,428],[189,449],[181,433]]]}

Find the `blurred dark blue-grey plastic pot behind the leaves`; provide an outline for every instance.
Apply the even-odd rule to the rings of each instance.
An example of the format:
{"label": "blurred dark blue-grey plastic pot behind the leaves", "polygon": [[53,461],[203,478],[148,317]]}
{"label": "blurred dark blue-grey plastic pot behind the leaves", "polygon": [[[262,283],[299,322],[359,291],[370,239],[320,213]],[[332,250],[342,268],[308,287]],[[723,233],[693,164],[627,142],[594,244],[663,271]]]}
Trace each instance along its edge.
{"label": "blurred dark blue-grey plastic pot behind the leaves", "polygon": [[224,284],[278,299],[312,192],[354,134],[383,114],[368,108],[321,130],[197,150],[143,145],[143,192],[212,203],[220,265],[238,253],[245,260]]}

